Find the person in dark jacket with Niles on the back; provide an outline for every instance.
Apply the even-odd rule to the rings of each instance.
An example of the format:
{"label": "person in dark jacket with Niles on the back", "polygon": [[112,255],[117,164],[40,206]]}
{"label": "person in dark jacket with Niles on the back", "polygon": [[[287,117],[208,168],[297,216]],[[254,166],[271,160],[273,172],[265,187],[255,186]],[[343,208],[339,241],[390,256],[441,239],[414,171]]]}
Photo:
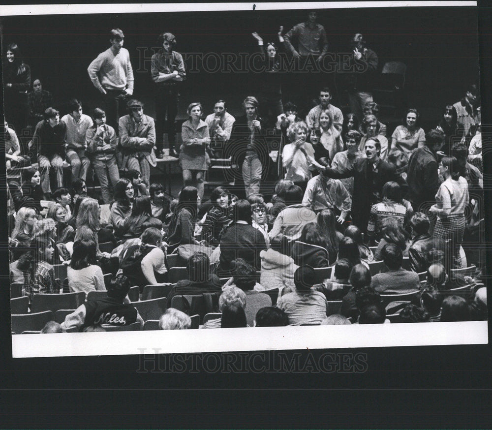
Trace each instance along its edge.
{"label": "person in dark jacket with Niles on the back", "polygon": [[84,330],[86,327],[101,324],[127,326],[136,321],[143,326],[144,321],[137,309],[129,303],[123,303],[129,290],[128,278],[124,275],[116,275],[108,285],[108,297],[80,305],[65,317],[62,329],[79,327]]}

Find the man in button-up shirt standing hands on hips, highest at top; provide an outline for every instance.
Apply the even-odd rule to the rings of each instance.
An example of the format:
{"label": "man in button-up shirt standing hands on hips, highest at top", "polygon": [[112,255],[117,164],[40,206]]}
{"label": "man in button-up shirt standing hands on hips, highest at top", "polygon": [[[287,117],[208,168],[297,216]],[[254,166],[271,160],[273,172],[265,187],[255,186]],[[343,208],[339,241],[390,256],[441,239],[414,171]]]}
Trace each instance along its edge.
{"label": "man in button-up shirt standing hands on hips, highest at top", "polygon": [[[316,11],[310,10],[307,14],[306,22],[297,24],[283,36],[285,47],[292,53],[298,68],[296,70],[298,72],[296,73],[298,75],[297,79],[292,84],[299,88],[301,97],[308,97],[309,99],[314,95],[312,94],[312,84],[318,86],[319,79],[311,79],[312,76],[307,77],[306,72],[308,70],[312,72],[315,69],[318,74],[321,73],[319,64],[328,52],[325,28],[320,24],[316,24],[316,18]],[[297,49],[294,46],[295,44]],[[291,87],[296,88],[294,86]]]}

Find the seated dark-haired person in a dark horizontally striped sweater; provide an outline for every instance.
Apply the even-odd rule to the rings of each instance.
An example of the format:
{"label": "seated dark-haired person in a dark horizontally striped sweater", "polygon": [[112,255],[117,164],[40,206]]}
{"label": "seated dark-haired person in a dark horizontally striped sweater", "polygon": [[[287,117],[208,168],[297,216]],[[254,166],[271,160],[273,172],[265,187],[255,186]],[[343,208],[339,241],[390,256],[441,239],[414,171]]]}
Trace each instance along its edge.
{"label": "seated dark-haired person in a dark horizontally striped sweater", "polygon": [[232,220],[229,191],[223,186],[217,186],[210,195],[210,201],[212,205],[207,211],[202,226],[202,237],[209,245],[218,246],[222,229],[227,227]]}

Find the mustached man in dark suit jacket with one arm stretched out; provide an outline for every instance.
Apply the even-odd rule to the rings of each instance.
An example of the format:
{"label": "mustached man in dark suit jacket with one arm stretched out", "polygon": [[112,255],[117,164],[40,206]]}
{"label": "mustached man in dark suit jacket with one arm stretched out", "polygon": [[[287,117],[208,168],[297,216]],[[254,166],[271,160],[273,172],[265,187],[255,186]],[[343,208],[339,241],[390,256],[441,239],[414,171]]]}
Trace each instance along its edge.
{"label": "mustached man in dark suit jacket with one arm stretched out", "polygon": [[351,167],[340,170],[325,168],[325,175],[330,178],[354,178],[354,194],[352,196],[352,222],[366,232],[369,213],[372,205],[380,201],[383,185],[395,181],[406,193],[407,184],[396,172],[393,164],[379,158],[381,142],[372,137],[364,145],[367,158],[358,158]]}

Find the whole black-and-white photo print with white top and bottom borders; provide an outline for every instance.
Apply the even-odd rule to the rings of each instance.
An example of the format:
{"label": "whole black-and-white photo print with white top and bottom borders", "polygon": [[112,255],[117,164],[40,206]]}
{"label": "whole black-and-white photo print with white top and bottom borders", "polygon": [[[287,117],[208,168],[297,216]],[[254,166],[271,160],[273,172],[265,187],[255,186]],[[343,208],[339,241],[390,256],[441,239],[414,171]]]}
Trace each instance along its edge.
{"label": "whole black-and-white photo print with white top and bottom borders", "polygon": [[381,3],[4,6],[12,356],[487,343],[476,3]]}

